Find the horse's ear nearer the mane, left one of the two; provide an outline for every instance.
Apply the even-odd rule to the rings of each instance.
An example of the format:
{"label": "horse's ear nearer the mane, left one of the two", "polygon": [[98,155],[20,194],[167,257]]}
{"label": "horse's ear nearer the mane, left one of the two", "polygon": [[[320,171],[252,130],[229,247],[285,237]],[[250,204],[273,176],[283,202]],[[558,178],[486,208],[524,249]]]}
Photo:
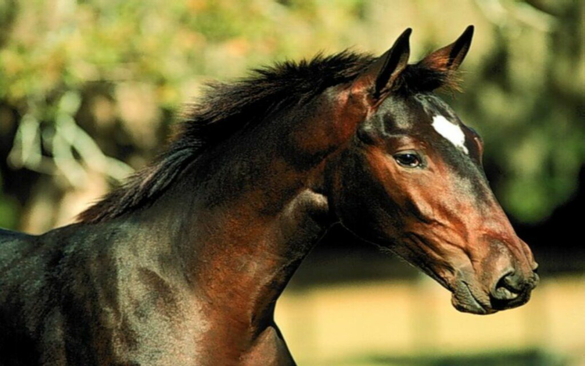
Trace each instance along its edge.
{"label": "horse's ear nearer the mane, left one of the two", "polygon": [[374,98],[379,98],[384,91],[388,90],[408,64],[410,33],[412,29],[404,30],[394,45],[357,77],[354,85],[367,88]]}

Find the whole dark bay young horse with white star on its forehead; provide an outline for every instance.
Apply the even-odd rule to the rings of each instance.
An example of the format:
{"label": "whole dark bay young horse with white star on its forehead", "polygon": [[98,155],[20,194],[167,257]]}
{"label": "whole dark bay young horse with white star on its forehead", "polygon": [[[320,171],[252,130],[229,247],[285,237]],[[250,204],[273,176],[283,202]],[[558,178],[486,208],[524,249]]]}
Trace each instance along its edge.
{"label": "whole dark bay young horse with white star on its forehead", "polygon": [[333,224],[392,251],[462,312],[539,281],[484,174],[483,142],[435,93],[473,26],[408,63],[345,50],[212,83],[167,149],[42,235],[0,232],[2,365],[294,365],[278,297]]}

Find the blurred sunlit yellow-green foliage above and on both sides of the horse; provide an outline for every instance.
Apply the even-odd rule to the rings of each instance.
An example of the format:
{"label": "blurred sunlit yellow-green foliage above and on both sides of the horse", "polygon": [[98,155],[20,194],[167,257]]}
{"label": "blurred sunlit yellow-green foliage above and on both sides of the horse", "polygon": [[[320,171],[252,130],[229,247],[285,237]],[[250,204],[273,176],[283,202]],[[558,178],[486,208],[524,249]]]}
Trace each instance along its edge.
{"label": "blurred sunlit yellow-green foliage above and on both sides of the horse", "polygon": [[[88,169],[119,180],[130,170],[122,160],[136,167],[152,156],[209,78],[319,50],[383,52],[406,26],[416,56],[421,44],[442,46],[475,23],[464,65],[473,72],[453,102],[483,132],[505,208],[542,220],[576,189],[585,160],[583,9],[487,3],[3,0],[0,112],[19,116],[8,160],[76,189],[87,186]],[[0,204],[2,217],[10,207]]]}

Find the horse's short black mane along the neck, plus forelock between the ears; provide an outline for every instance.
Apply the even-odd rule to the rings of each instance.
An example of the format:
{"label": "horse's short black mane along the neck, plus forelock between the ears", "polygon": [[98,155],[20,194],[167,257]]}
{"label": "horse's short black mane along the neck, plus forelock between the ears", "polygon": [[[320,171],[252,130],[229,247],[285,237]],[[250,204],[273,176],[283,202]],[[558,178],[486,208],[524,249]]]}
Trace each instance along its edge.
{"label": "horse's short black mane along the neck, plus forelock between the ears", "polygon": [[[273,111],[310,100],[325,88],[352,81],[374,60],[369,54],[347,50],[327,57],[318,54],[309,61],[285,61],[253,70],[249,77],[233,83],[209,84],[207,93],[188,112],[166,152],[82,212],[78,220],[98,223],[152,202],[207,148],[259,123]],[[402,72],[398,85],[402,91],[417,93],[432,91],[450,80],[450,73],[418,63]]]}

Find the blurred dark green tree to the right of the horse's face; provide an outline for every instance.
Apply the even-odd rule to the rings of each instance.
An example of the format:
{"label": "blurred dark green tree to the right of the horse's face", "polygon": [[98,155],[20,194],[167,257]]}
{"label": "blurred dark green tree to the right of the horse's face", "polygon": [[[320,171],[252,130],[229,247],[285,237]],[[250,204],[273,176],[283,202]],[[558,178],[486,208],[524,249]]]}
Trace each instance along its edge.
{"label": "blurred dark green tree to the right of the horse's face", "polygon": [[497,42],[463,104],[478,124],[495,124],[484,129],[486,160],[500,170],[491,176],[504,206],[543,220],[576,191],[585,161],[583,3],[477,4]]}

